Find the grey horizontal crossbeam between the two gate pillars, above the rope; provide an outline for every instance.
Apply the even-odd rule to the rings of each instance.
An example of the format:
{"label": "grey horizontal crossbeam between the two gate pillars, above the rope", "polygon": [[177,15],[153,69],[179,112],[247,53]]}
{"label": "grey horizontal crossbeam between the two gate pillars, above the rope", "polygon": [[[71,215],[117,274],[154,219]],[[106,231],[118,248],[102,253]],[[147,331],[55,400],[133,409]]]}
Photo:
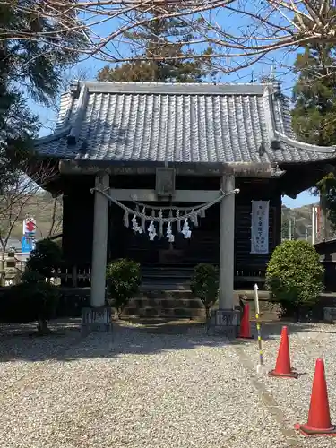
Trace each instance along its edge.
{"label": "grey horizontal crossbeam between the two gate pillars, above the rope", "polygon": [[[111,188],[109,195],[117,201],[168,202],[160,199],[155,190]],[[211,202],[220,197],[218,190],[177,190],[172,197],[174,202]]]}

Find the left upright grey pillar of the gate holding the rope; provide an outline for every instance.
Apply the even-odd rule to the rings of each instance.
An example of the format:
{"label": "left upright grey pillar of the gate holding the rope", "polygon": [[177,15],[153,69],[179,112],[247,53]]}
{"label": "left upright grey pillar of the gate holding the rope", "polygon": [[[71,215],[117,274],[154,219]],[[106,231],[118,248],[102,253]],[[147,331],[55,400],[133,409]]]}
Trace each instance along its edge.
{"label": "left upright grey pillar of the gate holding the rope", "polygon": [[[97,175],[96,188],[109,187],[107,173]],[[108,198],[99,192],[94,193],[93,247],[90,306],[105,305],[106,265],[108,252]]]}

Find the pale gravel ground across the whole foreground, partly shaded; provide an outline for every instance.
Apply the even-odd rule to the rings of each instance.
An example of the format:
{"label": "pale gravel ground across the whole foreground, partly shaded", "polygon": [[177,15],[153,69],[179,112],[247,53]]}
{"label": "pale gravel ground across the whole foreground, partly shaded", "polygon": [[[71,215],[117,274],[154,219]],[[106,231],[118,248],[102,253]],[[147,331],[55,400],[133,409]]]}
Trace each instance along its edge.
{"label": "pale gravel ground across the whole foreground, partly shaded", "polygon": [[[71,327],[71,325],[70,325]],[[174,334],[123,324],[114,334],[0,336],[1,447],[329,448],[306,439],[314,360],[326,360],[336,420],[336,327],[290,326],[298,380],[256,375],[255,341],[228,344],[194,328]],[[273,367],[279,328],[264,328]],[[182,331],[181,331],[182,332]],[[5,344],[3,344],[5,342]]]}

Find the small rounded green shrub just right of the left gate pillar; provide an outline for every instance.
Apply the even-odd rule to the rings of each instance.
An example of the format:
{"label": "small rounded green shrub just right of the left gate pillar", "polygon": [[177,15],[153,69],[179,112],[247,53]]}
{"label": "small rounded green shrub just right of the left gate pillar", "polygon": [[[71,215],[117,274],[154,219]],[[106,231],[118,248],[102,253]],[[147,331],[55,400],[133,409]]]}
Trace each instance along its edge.
{"label": "small rounded green shrub just right of the left gate pillar", "polygon": [[121,259],[108,264],[108,293],[109,297],[114,300],[119,318],[129,299],[139,291],[141,282],[140,263]]}

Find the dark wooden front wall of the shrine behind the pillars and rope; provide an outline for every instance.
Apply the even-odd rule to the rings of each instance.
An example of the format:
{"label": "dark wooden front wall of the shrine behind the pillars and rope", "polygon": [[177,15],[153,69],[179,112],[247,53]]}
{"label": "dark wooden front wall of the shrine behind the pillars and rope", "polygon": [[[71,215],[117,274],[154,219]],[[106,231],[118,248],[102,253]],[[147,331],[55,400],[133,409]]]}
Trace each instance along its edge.
{"label": "dark wooden front wall of the shrine behind the pillars and rope", "polygon": [[[93,186],[92,177],[65,179],[63,245],[65,259],[69,264],[90,265],[93,228]],[[111,186],[117,188],[154,188],[155,177],[111,178]],[[219,189],[220,179],[214,177],[177,177],[177,189]],[[277,181],[263,179],[237,179],[236,195],[236,271],[264,267],[269,254],[250,254],[251,201],[270,200],[270,250],[280,243],[281,199]],[[134,204],[129,204],[134,207]],[[178,204],[185,206],[187,204]],[[128,256],[141,263],[166,263],[169,243],[163,237],[154,242],[148,234],[134,234],[132,223],[125,228],[124,211],[116,205],[110,207],[108,228],[108,259]],[[131,220],[132,216],[130,216]],[[194,228],[192,238],[177,235],[172,263],[195,264],[219,262],[220,205],[215,205]],[[166,254],[166,255],[165,255]]]}

